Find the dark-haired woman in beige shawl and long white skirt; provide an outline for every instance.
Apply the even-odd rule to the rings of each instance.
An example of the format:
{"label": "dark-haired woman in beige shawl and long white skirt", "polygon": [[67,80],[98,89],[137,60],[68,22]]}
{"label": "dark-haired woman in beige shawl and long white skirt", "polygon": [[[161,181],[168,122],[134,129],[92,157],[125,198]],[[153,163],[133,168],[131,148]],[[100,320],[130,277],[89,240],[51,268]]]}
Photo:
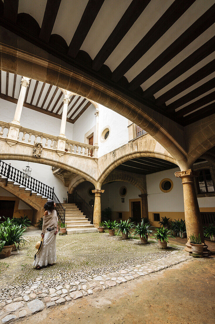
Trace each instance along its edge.
{"label": "dark-haired woman in beige shawl and long white skirt", "polygon": [[44,238],[43,245],[36,259],[33,267],[40,269],[47,264],[56,262],[56,234],[58,233],[58,217],[55,210],[56,204],[53,200],[47,201],[44,205],[45,213],[43,217],[43,228],[41,237]]}

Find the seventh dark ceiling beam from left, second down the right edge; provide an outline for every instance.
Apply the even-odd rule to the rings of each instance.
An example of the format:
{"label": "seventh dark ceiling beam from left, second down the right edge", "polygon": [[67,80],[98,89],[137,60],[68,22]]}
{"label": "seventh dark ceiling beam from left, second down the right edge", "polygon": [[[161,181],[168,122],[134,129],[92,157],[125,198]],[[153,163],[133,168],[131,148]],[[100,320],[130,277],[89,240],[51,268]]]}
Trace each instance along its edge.
{"label": "seventh dark ceiling beam from left, second down the right edge", "polygon": [[188,71],[192,66],[196,65],[200,61],[202,61],[205,57],[214,52],[215,45],[215,36],[213,36],[209,41],[200,46],[196,51],[190,54],[186,59],[176,65],[172,70],[163,75],[158,81],[156,81],[153,85],[148,87],[147,90],[144,91],[143,97],[149,98],[153,96],[156,92],[166,87],[169,83],[174,81],[180,75]]}

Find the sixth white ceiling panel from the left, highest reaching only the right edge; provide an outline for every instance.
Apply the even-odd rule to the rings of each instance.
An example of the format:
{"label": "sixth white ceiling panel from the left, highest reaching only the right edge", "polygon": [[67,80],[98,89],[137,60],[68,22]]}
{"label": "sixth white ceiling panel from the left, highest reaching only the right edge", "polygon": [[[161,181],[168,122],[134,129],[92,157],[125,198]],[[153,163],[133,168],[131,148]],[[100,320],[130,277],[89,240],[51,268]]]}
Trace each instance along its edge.
{"label": "sixth white ceiling panel from the left, highest reaching only the right edge", "polygon": [[202,33],[198,38],[192,41],[183,51],[176,55],[172,60],[165,64],[158,72],[152,75],[148,80],[146,80],[142,85],[142,89],[146,90],[157,80],[159,80],[163,75],[166,75],[170,70],[172,70],[176,65],[186,59],[190,54],[195,52],[200,48],[204,43],[209,41],[212,35],[215,34],[215,23],[210,26],[204,33]]}

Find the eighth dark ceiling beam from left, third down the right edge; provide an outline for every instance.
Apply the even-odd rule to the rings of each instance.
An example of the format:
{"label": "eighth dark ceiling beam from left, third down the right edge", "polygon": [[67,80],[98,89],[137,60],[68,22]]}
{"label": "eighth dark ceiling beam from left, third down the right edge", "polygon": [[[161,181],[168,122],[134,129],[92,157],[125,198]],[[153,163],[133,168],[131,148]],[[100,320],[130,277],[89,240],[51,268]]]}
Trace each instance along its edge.
{"label": "eighth dark ceiling beam from left, third down the right edge", "polygon": [[190,75],[187,79],[181,81],[175,87],[169,89],[163,95],[158,97],[156,99],[156,103],[158,105],[162,105],[164,102],[168,101],[171,98],[174,98],[179,93],[193,86],[195,83],[204,79],[206,76],[210,75],[214,71],[215,71],[215,59],[209,62],[208,64],[206,64],[205,66],[201,67],[198,71]]}

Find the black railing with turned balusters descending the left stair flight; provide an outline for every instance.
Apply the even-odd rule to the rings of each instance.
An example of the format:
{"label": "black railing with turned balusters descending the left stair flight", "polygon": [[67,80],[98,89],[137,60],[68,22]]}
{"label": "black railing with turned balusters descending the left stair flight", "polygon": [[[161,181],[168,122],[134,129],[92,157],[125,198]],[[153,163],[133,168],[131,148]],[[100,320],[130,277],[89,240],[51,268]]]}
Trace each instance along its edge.
{"label": "black railing with turned balusters descending the left stair flight", "polygon": [[5,186],[7,186],[8,179],[34,191],[39,193],[40,195],[47,197],[49,199],[54,200],[56,203],[56,212],[58,217],[61,219],[63,223],[65,223],[65,208],[61,205],[59,199],[54,193],[54,188],[47,186],[45,183],[34,179],[30,176],[24,177],[24,173],[10,164],[7,164],[0,160],[0,174],[3,175],[5,180]]}

